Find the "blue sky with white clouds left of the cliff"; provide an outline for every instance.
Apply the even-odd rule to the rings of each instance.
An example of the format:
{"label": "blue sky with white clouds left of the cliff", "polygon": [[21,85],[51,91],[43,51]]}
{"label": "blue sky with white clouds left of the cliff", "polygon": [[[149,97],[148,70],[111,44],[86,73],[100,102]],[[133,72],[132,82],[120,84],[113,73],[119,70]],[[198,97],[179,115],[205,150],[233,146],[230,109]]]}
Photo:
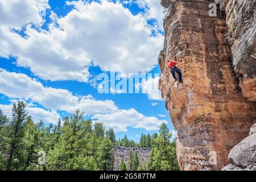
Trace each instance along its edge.
{"label": "blue sky with white clouds left of the cliff", "polygon": [[158,91],[97,91],[100,73],[160,73],[159,1],[34,1],[0,2],[0,109],[6,115],[24,100],[35,122],[56,123],[81,108],[86,118],[113,127],[117,138],[138,142],[162,122],[173,130],[164,101],[149,99]]}

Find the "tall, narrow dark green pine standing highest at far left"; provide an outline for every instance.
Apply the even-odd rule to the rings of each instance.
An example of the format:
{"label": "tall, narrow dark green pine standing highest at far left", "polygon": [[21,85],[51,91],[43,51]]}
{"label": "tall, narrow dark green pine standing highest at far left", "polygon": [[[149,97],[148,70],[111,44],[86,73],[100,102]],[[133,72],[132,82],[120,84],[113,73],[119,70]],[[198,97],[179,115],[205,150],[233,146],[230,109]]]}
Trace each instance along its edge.
{"label": "tall, narrow dark green pine standing highest at far left", "polygon": [[7,143],[7,160],[6,170],[20,169],[23,164],[23,150],[24,145],[22,138],[24,136],[24,122],[27,118],[26,104],[23,101],[18,101],[18,104],[13,104],[13,118],[8,123],[8,137]]}

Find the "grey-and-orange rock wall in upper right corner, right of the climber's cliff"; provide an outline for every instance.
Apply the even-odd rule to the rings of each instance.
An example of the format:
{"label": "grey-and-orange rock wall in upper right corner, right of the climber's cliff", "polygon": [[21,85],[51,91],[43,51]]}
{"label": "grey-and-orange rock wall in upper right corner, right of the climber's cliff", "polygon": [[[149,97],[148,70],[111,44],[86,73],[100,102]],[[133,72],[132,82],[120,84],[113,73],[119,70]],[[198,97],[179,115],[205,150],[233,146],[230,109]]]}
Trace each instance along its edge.
{"label": "grey-and-orange rock wall in upper right corner, right of the climber's cliff", "polygon": [[243,96],[256,101],[256,0],[220,0],[226,13],[233,67]]}

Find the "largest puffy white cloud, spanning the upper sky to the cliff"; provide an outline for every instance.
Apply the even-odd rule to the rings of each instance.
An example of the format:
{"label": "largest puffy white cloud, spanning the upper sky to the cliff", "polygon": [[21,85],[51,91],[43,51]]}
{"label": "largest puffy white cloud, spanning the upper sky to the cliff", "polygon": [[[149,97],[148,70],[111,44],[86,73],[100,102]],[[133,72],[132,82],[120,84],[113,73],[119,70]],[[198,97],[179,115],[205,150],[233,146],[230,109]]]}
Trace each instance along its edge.
{"label": "largest puffy white cloud, spanning the upper sky to the cliff", "polygon": [[6,26],[11,24],[2,24],[0,55],[13,55],[19,66],[52,81],[88,81],[91,60],[105,71],[125,74],[156,65],[164,38],[151,36],[152,27],[141,14],[132,15],[121,4],[108,1],[71,4],[75,9],[66,16],[52,15],[55,22],[49,24],[49,31],[38,32],[28,25],[27,38],[10,32]]}

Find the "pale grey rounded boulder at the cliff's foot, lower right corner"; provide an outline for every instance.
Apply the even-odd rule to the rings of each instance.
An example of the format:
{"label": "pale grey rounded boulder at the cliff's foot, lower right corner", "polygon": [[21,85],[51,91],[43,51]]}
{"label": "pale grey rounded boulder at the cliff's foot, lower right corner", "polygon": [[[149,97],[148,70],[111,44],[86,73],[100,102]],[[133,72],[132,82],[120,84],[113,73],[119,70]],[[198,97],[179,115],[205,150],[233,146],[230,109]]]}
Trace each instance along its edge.
{"label": "pale grey rounded boulder at the cliff's foot, lower right corner", "polygon": [[[251,127],[253,130],[255,126]],[[256,133],[251,133],[232,148],[228,160],[230,164],[222,171],[256,171]]]}

